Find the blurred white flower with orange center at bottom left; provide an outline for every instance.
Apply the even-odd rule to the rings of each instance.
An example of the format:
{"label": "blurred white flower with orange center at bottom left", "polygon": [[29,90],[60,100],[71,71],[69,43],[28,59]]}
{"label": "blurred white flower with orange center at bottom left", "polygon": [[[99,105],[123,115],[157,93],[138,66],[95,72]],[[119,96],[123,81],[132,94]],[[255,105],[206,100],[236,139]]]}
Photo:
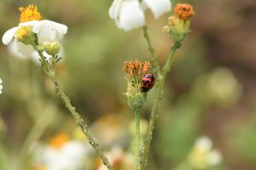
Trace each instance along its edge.
{"label": "blurred white flower with orange center at bottom left", "polygon": [[79,140],[69,140],[61,134],[49,144],[37,144],[32,152],[36,167],[47,170],[78,170],[84,166],[90,146]]}

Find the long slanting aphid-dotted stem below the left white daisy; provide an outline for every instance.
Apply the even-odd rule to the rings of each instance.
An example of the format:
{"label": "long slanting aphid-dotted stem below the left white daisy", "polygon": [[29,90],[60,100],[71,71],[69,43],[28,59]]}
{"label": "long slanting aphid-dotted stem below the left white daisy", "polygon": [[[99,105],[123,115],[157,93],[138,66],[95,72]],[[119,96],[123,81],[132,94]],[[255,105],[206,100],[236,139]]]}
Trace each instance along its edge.
{"label": "long slanting aphid-dotted stem below the left white daisy", "polygon": [[[36,48],[36,50],[38,51],[37,48]],[[49,66],[49,63],[46,61],[46,59],[44,59],[43,53],[38,51],[38,54],[40,55],[40,58],[42,59],[42,64],[43,64],[45,73],[49,76],[51,81],[55,83],[56,93],[61,96],[61,99],[63,100],[64,105],[67,107],[68,111],[70,111],[70,113],[74,117],[75,121],[77,122],[77,124],[79,125],[79,127],[83,131],[84,135],[88,139],[90,145],[94,148],[94,150],[96,150],[96,153],[98,154],[98,156],[101,157],[104,165],[106,167],[108,167],[108,170],[113,170],[113,168],[110,166],[108,158],[103,155],[102,148],[100,147],[99,144],[96,143],[95,139],[93,139],[93,137],[91,136],[87,123],[84,122],[82,117],[76,111],[75,107],[73,107],[73,105],[70,103],[70,99],[67,97],[67,95],[62,90],[62,88],[60,86],[60,83],[57,82],[56,77],[55,77],[55,71],[52,71],[52,69]]]}

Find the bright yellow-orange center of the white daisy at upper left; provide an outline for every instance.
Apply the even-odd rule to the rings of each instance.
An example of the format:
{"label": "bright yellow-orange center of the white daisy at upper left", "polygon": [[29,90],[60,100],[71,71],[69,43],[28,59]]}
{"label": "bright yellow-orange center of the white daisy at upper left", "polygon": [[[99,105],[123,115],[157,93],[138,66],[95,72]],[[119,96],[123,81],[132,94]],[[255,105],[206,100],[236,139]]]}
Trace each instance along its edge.
{"label": "bright yellow-orange center of the white daisy at upper left", "polygon": [[28,22],[32,20],[41,20],[41,14],[38,12],[38,7],[34,5],[28,5],[28,7],[20,7],[20,23]]}

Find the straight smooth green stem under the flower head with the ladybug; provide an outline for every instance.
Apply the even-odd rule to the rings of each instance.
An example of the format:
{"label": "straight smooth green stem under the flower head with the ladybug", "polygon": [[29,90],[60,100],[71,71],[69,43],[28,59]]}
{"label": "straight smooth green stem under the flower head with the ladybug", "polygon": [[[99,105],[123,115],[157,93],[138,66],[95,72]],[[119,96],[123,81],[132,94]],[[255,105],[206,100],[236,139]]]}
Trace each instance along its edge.
{"label": "straight smooth green stem under the flower head with the ladybug", "polygon": [[136,155],[136,170],[140,170],[140,113],[141,111],[137,109],[135,114],[135,121],[136,121],[136,147],[135,147],[135,155]]}

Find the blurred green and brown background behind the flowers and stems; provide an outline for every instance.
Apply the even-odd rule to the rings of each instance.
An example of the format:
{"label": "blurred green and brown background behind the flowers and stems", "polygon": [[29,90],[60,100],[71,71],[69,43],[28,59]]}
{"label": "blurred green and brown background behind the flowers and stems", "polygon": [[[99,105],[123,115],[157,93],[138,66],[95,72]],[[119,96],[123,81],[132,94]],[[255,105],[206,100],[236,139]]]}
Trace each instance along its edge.
{"label": "blurred green and brown background behind the flowers and stems", "polygon": [[[173,4],[180,2],[194,4],[196,15],[166,81],[149,170],[172,169],[202,135],[209,136],[223,154],[222,164],[212,169],[256,169],[256,2],[176,0]],[[0,0],[1,37],[18,25],[18,8],[29,3],[38,5],[44,19],[68,26],[63,41],[66,58],[57,72],[73,105],[92,126],[97,120],[108,122],[110,116],[116,121],[113,130],[125,129],[133,114],[123,95],[122,66],[129,59],[150,59],[143,31],[119,30],[108,17],[112,0]],[[161,65],[172,46],[162,31],[167,16],[154,20],[147,11],[148,31]],[[15,170],[20,160],[24,165],[17,169],[30,169],[24,150],[56,133],[71,133],[75,122],[40,66],[10,55],[3,43],[0,77],[0,169]],[[143,111],[146,120],[153,99],[154,89]],[[105,128],[95,131],[104,149],[124,144],[119,140],[130,143],[125,130],[117,131],[119,139],[110,139],[110,144],[100,137]]]}

